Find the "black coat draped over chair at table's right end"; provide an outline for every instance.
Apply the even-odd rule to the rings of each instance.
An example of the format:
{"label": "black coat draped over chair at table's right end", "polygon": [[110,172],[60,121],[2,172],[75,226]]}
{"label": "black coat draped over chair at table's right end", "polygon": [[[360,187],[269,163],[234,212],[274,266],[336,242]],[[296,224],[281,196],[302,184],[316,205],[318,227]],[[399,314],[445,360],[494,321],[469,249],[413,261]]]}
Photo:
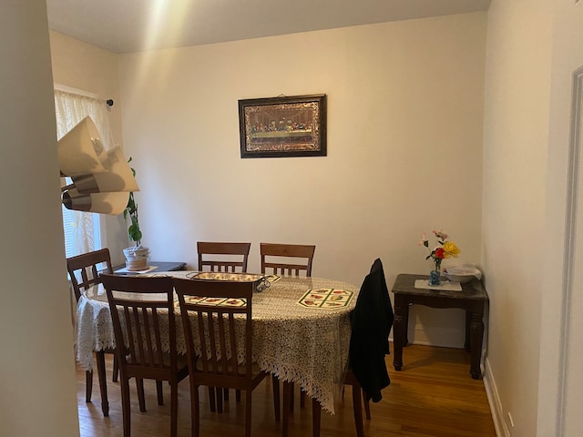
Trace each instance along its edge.
{"label": "black coat draped over chair at table's right end", "polygon": [[356,300],[349,355],[354,376],[373,402],[383,399],[381,390],[391,383],[384,355],[389,353],[393,320],[393,305],[384,279],[383,263],[376,259]]}

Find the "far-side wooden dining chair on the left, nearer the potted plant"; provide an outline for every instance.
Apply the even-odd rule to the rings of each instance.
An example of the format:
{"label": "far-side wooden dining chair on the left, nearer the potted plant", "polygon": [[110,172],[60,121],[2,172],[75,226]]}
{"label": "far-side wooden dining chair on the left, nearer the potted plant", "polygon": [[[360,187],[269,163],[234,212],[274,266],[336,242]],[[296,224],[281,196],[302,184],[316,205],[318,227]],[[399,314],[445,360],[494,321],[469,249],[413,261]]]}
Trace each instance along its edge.
{"label": "far-side wooden dining chair on the left, nearer the potted plant", "polygon": [[[250,249],[251,243],[198,241],[199,271],[247,272]],[[240,391],[236,391],[235,396],[240,401]],[[229,401],[229,389],[215,393],[214,387],[209,387],[211,412],[222,412],[223,399]]]}

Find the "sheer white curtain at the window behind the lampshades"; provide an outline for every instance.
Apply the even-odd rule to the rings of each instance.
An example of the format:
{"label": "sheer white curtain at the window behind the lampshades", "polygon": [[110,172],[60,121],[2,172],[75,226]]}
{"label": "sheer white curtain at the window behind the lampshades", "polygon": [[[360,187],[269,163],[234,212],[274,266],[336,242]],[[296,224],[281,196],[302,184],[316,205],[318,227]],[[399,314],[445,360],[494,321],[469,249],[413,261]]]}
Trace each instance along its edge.
{"label": "sheer white curtain at the window behind the lampshades", "polygon": [[[112,147],[107,108],[103,101],[86,94],[55,89],[56,136],[63,137],[83,118],[89,116],[95,122],[103,146]],[[97,223],[96,223],[97,220]],[[63,207],[66,257],[87,253],[96,249],[99,235],[97,214],[73,211]],[[98,249],[98,248],[97,248]]]}

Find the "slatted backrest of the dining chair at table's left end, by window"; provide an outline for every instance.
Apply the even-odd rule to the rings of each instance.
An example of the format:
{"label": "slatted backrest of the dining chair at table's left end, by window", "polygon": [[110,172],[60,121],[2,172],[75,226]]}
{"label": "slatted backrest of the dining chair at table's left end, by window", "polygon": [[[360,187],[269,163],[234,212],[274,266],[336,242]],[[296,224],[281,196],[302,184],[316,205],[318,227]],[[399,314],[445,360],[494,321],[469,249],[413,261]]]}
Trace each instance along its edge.
{"label": "slatted backrest of the dining chair at table's left end, by window", "polygon": [[[105,269],[99,267],[105,263]],[[101,283],[99,272],[113,273],[109,249],[99,249],[66,259],[66,269],[73,285],[75,298],[79,300],[81,292]],[[89,270],[87,272],[87,270]],[[79,276],[80,275],[80,278]]]}

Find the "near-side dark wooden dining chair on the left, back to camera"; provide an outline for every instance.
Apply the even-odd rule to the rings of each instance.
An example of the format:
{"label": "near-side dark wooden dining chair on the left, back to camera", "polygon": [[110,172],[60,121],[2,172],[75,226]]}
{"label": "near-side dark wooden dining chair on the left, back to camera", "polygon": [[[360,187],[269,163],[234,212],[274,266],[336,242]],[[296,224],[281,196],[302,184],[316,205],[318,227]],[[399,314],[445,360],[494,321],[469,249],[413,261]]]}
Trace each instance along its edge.
{"label": "near-side dark wooden dining chair on the left, back to camera", "polygon": [[[184,355],[176,351],[174,288],[170,277],[101,275],[106,289],[117,348],[123,435],[131,432],[129,379],[138,383],[139,409],[143,403],[143,380],[169,381],[170,436],[178,434],[178,384],[189,375]],[[165,327],[164,329],[162,327]],[[168,327],[168,328],[166,328]],[[165,335],[168,330],[168,336]]]}

